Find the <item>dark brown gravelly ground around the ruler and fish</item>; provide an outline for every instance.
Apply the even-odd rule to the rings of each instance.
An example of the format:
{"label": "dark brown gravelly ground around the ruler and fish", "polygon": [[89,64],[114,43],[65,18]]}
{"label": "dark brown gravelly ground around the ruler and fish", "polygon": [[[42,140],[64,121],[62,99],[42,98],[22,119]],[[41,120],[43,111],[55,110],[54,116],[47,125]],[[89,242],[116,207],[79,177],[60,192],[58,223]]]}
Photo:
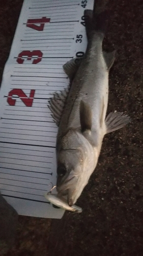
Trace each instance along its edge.
{"label": "dark brown gravelly ground around the ruler and fish", "polygon": [[[1,77],[22,2],[0,0]],[[96,171],[77,203],[82,214],[66,212],[63,221],[52,221],[56,228],[55,239],[50,234],[50,245],[51,220],[19,216],[16,243],[7,256],[143,255],[143,1],[109,0],[107,9],[110,14],[103,48],[117,50],[110,71],[108,112],[128,113],[132,122],[105,136]],[[56,240],[56,249],[48,252]]]}

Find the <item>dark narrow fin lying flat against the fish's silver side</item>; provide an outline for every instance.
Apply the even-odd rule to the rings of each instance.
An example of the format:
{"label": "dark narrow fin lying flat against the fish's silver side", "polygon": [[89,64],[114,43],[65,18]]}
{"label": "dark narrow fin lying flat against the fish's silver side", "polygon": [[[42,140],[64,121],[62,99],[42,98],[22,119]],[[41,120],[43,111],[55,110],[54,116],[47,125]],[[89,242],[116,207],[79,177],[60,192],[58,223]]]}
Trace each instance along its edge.
{"label": "dark narrow fin lying flat against the fish's silver side", "polygon": [[81,132],[91,130],[92,127],[92,111],[90,106],[83,100],[80,101],[80,125]]}

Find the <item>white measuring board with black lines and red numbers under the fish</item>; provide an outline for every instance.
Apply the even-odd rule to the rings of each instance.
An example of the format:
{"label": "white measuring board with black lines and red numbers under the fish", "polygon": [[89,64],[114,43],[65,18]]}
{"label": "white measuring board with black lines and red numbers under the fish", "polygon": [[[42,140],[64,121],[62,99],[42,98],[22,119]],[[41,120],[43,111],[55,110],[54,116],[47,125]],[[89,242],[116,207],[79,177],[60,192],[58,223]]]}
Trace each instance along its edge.
{"label": "white measuring board with black lines and red numbers under the fish", "polygon": [[48,100],[69,84],[63,65],[87,47],[93,0],[24,0],[0,91],[0,190],[20,215],[62,218],[44,198],[56,183]]}

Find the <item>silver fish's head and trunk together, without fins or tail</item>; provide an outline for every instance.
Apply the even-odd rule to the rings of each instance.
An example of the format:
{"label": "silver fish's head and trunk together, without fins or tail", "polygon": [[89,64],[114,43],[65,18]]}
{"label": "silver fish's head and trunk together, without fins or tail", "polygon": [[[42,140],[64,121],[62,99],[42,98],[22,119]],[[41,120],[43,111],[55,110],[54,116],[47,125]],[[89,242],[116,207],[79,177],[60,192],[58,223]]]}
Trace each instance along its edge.
{"label": "silver fish's head and trunk together, without fins or tail", "polygon": [[[58,166],[67,165],[58,190],[68,189],[70,205],[76,202],[93,173],[100,153],[108,101],[108,69],[102,54],[101,33],[91,39],[84,59],[71,84],[57,137]],[[80,102],[88,105],[91,129],[81,132]],[[83,118],[88,118],[85,116]],[[66,150],[66,152],[65,152]],[[71,152],[72,151],[72,152]],[[68,159],[68,164],[65,159]],[[71,180],[71,177],[73,180]],[[72,186],[71,186],[71,183]]]}

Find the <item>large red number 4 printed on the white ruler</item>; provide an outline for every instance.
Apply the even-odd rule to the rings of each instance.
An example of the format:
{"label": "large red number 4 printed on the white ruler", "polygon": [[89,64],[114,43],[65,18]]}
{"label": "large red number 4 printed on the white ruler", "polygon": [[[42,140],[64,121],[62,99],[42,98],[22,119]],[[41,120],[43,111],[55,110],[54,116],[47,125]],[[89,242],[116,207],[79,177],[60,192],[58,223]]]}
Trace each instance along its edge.
{"label": "large red number 4 printed on the white ruler", "polygon": [[[32,18],[32,19],[27,19],[26,27],[38,30],[38,31],[43,31],[45,23],[49,23],[50,18],[42,17],[42,18]],[[40,25],[36,25],[40,24]]]}

